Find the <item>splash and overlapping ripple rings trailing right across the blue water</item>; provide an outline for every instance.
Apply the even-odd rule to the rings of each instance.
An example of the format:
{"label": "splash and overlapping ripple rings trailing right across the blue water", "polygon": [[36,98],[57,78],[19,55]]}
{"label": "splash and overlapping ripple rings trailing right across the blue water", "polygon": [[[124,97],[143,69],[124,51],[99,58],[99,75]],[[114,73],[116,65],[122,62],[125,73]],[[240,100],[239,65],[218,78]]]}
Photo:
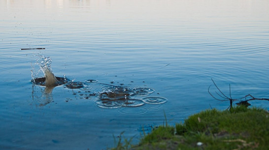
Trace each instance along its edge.
{"label": "splash and overlapping ripple rings trailing right across the blue water", "polygon": [[[79,99],[95,99],[95,103],[100,108],[120,108],[120,107],[139,107],[146,104],[162,104],[167,102],[163,97],[145,97],[155,92],[151,88],[126,87],[124,84],[119,86],[99,83],[95,79],[87,79],[84,82],[70,80],[66,77],[56,77],[51,69],[51,59],[39,56],[36,60],[39,70],[44,73],[44,77],[37,77],[32,71],[32,83],[38,86],[45,86],[44,93],[50,94],[54,87],[63,85],[64,88],[72,89],[73,95],[78,95]],[[99,85],[99,88],[94,88]],[[101,86],[101,87],[100,87]],[[94,98],[92,98],[94,97]],[[139,98],[137,98],[139,97]],[[70,99],[66,99],[68,102]]]}

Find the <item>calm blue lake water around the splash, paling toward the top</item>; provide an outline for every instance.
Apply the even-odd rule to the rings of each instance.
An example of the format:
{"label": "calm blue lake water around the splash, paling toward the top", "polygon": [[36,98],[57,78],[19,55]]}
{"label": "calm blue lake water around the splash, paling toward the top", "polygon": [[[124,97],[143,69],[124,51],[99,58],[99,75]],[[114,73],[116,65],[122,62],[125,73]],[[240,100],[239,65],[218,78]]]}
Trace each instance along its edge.
{"label": "calm blue lake water around the splash, paling toward the top", "polygon": [[[84,89],[33,85],[42,58]],[[135,144],[165,114],[174,125],[228,108],[211,78],[233,98],[269,98],[268,0],[0,0],[1,150],[102,150],[123,131]],[[104,84],[167,102],[102,108]]]}

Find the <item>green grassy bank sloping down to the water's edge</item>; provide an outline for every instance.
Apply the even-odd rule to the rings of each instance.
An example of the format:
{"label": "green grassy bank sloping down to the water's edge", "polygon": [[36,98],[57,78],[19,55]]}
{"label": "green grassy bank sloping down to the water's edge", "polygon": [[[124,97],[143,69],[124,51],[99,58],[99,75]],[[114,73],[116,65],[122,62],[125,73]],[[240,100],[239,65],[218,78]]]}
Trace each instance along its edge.
{"label": "green grassy bank sloping down to the water's edge", "polygon": [[163,125],[112,150],[269,150],[269,113],[235,107],[231,111],[202,111],[175,126]]}

